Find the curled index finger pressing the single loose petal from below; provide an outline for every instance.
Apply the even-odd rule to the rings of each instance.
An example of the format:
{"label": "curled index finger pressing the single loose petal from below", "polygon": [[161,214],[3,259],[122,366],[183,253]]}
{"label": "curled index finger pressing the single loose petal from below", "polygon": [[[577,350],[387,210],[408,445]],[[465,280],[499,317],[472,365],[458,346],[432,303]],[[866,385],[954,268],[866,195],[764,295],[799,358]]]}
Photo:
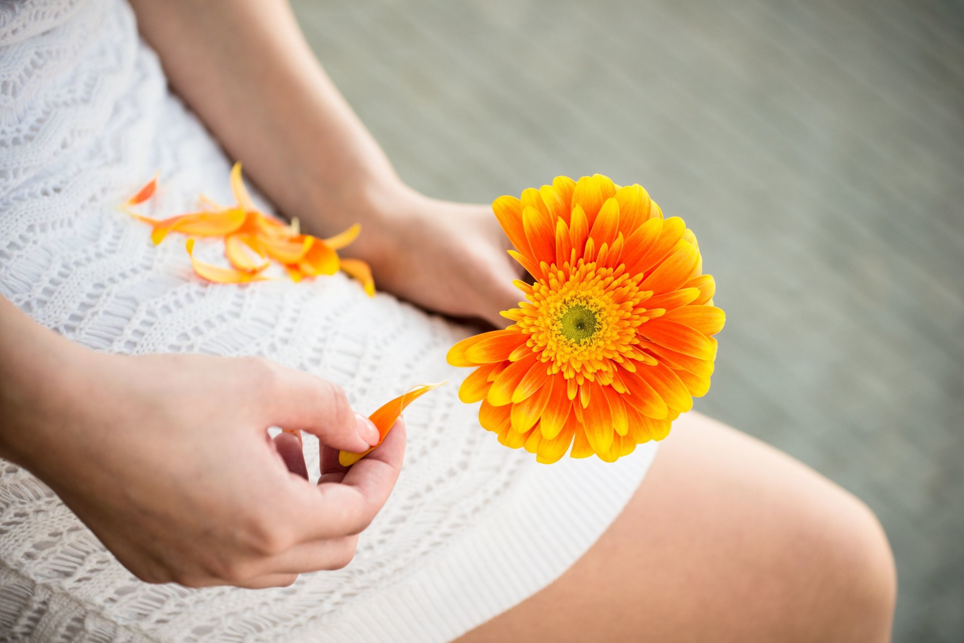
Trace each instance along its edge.
{"label": "curled index finger pressing the single loose petal from below", "polygon": [[301,542],[360,533],[388,500],[404,457],[405,423],[399,420],[385,442],[347,471],[328,462],[317,488],[295,486]]}

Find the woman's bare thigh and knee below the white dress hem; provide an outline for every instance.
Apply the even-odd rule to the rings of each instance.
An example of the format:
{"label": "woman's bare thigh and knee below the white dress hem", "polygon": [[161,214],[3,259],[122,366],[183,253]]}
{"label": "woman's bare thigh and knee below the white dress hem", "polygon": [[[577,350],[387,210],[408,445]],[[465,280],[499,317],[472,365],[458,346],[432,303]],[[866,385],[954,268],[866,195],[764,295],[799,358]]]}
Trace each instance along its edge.
{"label": "woman's bare thigh and knee below the white dress hem", "polygon": [[689,414],[599,542],[460,643],[871,643],[889,640],[895,594],[890,548],[863,503]]}

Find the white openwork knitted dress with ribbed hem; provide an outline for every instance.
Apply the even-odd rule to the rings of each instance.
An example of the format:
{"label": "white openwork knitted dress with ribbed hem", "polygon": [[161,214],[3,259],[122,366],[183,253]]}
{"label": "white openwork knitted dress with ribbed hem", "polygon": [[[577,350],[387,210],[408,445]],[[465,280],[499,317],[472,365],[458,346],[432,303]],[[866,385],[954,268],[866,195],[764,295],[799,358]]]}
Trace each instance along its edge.
{"label": "white openwork knitted dress with ribbed hem", "polygon": [[[0,640],[445,641],[549,584],[615,519],[655,445],[537,465],[458,401],[468,371],[444,356],[467,330],[340,275],[204,283],[181,243],[153,246],[117,210],[155,171],[158,214],[202,191],[228,201],[228,169],[120,0],[0,2],[4,297],[100,351],[265,356],[335,381],[365,412],[415,383],[452,384],[406,412],[405,467],[355,560],[284,589],[143,583],[0,461]],[[316,465],[311,438],[306,454]]]}

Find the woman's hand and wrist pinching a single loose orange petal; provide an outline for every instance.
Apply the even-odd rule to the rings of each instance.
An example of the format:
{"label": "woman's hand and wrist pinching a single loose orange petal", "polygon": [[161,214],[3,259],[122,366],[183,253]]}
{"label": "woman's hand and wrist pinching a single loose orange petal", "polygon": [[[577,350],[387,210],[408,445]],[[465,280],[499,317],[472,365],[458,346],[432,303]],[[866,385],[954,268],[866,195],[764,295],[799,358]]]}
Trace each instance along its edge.
{"label": "woman's hand and wrist pinching a single loose orange petal", "polygon": [[[403,426],[345,471],[336,449],[365,450],[378,432],[333,384],[257,359],[120,357],[56,339],[58,368],[40,388],[21,386],[30,374],[0,381],[3,455],[135,576],[268,587],[352,559],[401,468]],[[297,439],[270,441],[272,425],[328,445],[317,486]]]}

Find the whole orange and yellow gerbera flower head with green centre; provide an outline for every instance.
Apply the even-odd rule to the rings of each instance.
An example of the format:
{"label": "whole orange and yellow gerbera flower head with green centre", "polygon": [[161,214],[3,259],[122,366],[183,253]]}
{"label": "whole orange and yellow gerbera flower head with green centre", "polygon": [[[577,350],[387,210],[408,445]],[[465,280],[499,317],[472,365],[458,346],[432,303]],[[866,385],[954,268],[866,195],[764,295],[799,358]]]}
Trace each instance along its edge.
{"label": "whole orange and yellow gerbera flower head with green centre", "polygon": [[477,367],[462,401],[481,401],[484,428],[544,463],[570,446],[613,462],[665,438],[710,388],[725,320],[692,230],[602,174],[558,176],[493,210],[534,283],[516,281],[526,301],[502,312],[511,326],[448,352]]}

